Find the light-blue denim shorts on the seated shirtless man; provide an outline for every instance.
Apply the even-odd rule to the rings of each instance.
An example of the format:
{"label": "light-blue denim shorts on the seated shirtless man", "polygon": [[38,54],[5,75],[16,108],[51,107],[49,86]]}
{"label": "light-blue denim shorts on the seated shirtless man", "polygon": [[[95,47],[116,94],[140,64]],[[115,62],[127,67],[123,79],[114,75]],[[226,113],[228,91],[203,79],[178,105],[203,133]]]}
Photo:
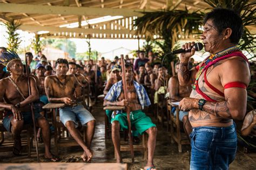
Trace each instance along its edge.
{"label": "light-blue denim shorts on the seated shirtless man", "polygon": [[73,121],[76,128],[78,127],[78,121],[85,126],[86,123],[95,120],[92,114],[84,108],[82,104],[78,104],[75,107],[59,108],[60,121],[66,126],[66,122]]}

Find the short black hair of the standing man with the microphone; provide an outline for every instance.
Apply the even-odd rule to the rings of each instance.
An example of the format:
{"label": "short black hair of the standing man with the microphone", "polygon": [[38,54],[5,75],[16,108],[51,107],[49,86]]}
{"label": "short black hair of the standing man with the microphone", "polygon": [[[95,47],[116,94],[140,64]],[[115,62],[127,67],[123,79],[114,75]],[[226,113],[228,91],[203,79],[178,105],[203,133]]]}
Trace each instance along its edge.
{"label": "short black hair of the standing man with the microphone", "polygon": [[242,37],[243,26],[242,19],[237,12],[232,9],[215,8],[206,14],[204,24],[208,19],[212,20],[219,34],[221,34],[223,30],[230,28],[232,30],[230,42],[238,44]]}

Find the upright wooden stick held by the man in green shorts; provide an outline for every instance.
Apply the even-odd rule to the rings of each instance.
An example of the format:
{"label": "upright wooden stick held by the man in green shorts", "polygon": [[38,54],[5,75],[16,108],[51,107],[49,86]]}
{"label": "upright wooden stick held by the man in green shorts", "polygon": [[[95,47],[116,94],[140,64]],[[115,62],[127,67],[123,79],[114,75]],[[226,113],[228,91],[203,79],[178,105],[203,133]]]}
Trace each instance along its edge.
{"label": "upright wooden stick held by the man in green shorts", "polygon": [[[128,100],[126,79],[125,79],[124,55],[123,54],[121,54],[121,66],[122,66],[124,98],[125,98],[125,100]],[[126,114],[127,114],[128,129],[129,129],[129,141],[130,141],[130,148],[131,148],[131,156],[132,156],[132,162],[134,162],[134,151],[133,151],[133,145],[132,145],[132,129],[131,129],[130,107],[129,106],[126,107]]]}

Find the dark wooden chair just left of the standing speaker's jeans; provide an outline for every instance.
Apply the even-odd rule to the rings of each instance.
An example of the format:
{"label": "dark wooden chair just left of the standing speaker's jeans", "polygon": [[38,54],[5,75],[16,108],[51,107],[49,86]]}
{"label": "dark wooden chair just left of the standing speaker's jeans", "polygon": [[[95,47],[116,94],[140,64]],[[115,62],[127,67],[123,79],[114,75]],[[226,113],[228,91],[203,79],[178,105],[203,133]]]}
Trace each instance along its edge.
{"label": "dark wooden chair just left of the standing speaker's jeans", "polygon": [[[176,116],[171,113],[171,107],[176,108]],[[180,133],[180,121],[179,121],[179,105],[173,104],[170,100],[167,101],[167,115],[170,116],[170,124],[171,124],[171,143],[174,141],[178,144],[179,153],[182,152],[181,145],[190,145],[190,142],[187,138],[181,138]],[[182,127],[182,126],[181,126]],[[176,128],[176,132],[173,128]]]}

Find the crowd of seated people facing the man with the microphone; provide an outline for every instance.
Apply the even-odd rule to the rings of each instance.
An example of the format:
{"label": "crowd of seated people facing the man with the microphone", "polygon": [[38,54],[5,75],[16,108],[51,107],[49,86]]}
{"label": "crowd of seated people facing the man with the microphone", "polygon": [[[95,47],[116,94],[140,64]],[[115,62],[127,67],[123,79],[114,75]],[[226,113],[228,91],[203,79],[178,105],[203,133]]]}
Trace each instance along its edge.
{"label": "crowd of seated people facing the man with the microphone", "polygon": [[[6,48],[1,47],[0,53],[6,53]],[[45,55],[42,52],[39,52],[36,58],[33,58],[32,53],[27,52],[25,57],[28,61],[28,65],[30,68],[30,76],[33,77],[32,80],[35,82],[31,83],[33,86],[34,93],[33,98],[29,97],[22,87],[20,87],[21,91],[25,91],[25,96],[22,98],[20,94],[15,93],[11,96],[13,98],[15,95],[19,96],[18,101],[12,101],[10,98],[8,100],[8,95],[2,93],[0,97],[0,107],[9,110],[8,113],[10,115],[11,112],[14,113],[14,119],[6,119],[5,117],[5,125],[9,131],[14,134],[15,144],[14,144],[14,154],[19,155],[21,152],[21,140],[20,140],[20,131],[17,130],[23,124],[28,123],[28,120],[25,120],[25,117],[21,117],[21,113],[29,112],[27,106],[29,102],[38,102],[40,109],[36,112],[36,121],[37,126],[41,128],[38,131],[37,137],[39,138],[42,134],[43,141],[45,144],[45,158],[49,158],[50,161],[58,161],[58,157],[53,155],[50,152],[50,142],[49,142],[49,124],[43,118],[44,112],[42,111],[42,106],[51,102],[51,103],[65,103],[67,107],[60,109],[60,119],[63,124],[68,128],[71,136],[77,141],[77,143],[83,148],[82,158],[84,161],[90,161],[93,156],[93,151],[90,146],[92,143],[93,134],[95,131],[95,118],[91,115],[91,113],[80,105],[80,95],[81,91],[79,87],[91,87],[91,95],[104,94],[106,97],[104,99],[104,105],[119,105],[120,103],[123,105],[128,105],[130,102],[130,106],[132,105],[132,109],[134,111],[140,110],[137,115],[141,115],[142,117],[138,117],[140,121],[144,122],[145,126],[137,126],[137,132],[135,131],[133,136],[138,136],[138,132],[142,134],[142,132],[146,131],[149,133],[150,140],[148,145],[150,146],[150,154],[149,160],[147,162],[146,167],[153,167],[153,152],[154,147],[156,145],[156,125],[151,122],[151,119],[145,115],[143,112],[143,108],[145,106],[150,105],[149,98],[147,94],[149,90],[156,92],[156,94],[163,94],[163,92],[169,93],[169,98],[172,102],[180,101],[184,97],[189,97],[191,93],[191,87],[183,87],[180,86],[177,73],[179,67],[179,61],[176,62],[175,71],[176,75],[172,75],[167,69],[166,66],[162,66],[159,61],[156,60],[156,56],[152,51],[149,51],[145,54],[144,51],[137,51],[137,58],[130,59],[128,55],[125,56],[125,69],[126,75],[129,77],[130,84],[128,87],[128,93],[132,97],[130,101],[124,100],[124,96],[122,94],[122,90],[119,91],[120,82],[122,82],[122,69],[121,69],[121,61],[118,56],[114,58],[113,61],[107,61],[102,57],[100,61],[97,63],[93,60],[89,61],[76,61],[75,59],[70,60],[69,62],[65,59],[58,59],[53,66],[51,66],[51,62],[49,62]],[[14,62],[14,63],[12,63]],[[0,87],[10,86],[9,79],[14,79],[16,84],[21,84],[24,81],[15,80],[19,74],[16,73],[15,69],[19,68],[19,64],[25,64],[23,61],[19,63],[19,60],[14,60],[9,62],[8,67],[5,67],[3,64],[0,64]],[[11,63],[11,64],[10,64]],[[16,67],[17,65],[17,67]],[[194,61],[191,59],[190,66],[193,68],[195,66]],[[8,72],[6,72],[6,68]],[[23,68],[23,67],[22,67]],[[23,68],[24,70],[24,68]],[[22,76],[22,75],[21,75]],[[25,75],[23,75],[24,77]],[[165,87],[164,87],[165,86]],[[10,86],[12,87],[12,86]],[[10,90],[7,88],[7,91]],[[19,86],[18,86],[19,87]],[[97,87],[97,89],[95,88]],[[167,88],[166,88],[167,87]],[[17,88],[16,88],[17,89]],[[16,90],[15,88],[12,90]],[[146,90],[147,89],[147,93]],[[63,93],[64,91],[64,93]],[[96,92],[97,91],[97,92]],[[115,96],[117,93],[120,96]],[[119,97],[118,100],[116,97]],[[5,100],[3,100],[5,98]],[[5,103],[5,102],[6,103]],[[156,97],[151,101],[154,103],[158,103],[156,101]],[[17,105],[18,103],[18,105]],[[7,104],[7,106],[6,106]],[[88,103],[87,103],[88,104]],[[22,108],[19,111],[19,108]],[[75,108],[75,109],[74,109]],[[131,110],[131,111],[133,111]],[[175,111],[172,110],[173,114]],[[72,113],[72,114],[71,114]],[[109,122],[112,123],[112,130],[114,131],[112,135],[114,147],[117,149],[117,162],[122,162],[122,157],[120,156],[120,137],[118,136],[117,131],[119,129],[127,128],[125,123],[125,115],[120,114],[119,116],[113,117],[111,110],[106,110],[107,117]],[[16,116],[17,115],[17,116]],[[188,113],[185,111],[179,112],[179,120],[184,124],[184,130],[187,134],[190,134],[192,131],[191,124],[188,119]],[[77,120],[82,122],[84,125],[87,125],[86,132],[86,142],[82,140],[79,132],[76,130]],[[18,119],[24,120],[22,123],[18,122]],[[28,118],[29,119],[29,118]],[[133,120],[134,121],[134,120]],[[187,123],[188,122],[188,123]],[[47,124],[47,125],[46,125]],[[41,132],[42,131],[42,132]],[[136,134],[137,133],[137,134]],[[244,121],[244,125],[242,126],[241,134],[242,136],[250,136],[251,138],[242,138],[243,144],[247,147],[248,144],[245,142],[246,140],[250,140],[255,138],[255,110],[250,112]],[[136,138],[134,138],[136,139]],[[253,143],[255,145],[255,143]],[[251,145],[250,145],[251,146]],[[249,147],[250,148],[250,147]]]}

